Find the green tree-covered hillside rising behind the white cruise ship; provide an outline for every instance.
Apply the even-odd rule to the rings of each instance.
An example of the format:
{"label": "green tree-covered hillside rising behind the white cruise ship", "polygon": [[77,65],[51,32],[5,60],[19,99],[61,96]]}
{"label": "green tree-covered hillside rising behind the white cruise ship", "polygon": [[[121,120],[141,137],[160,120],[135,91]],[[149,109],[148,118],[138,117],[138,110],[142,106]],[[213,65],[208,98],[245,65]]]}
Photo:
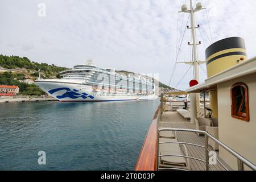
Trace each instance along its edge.
{"label": "green tree-covered hillside rising behind the white cruise ship", "polygon": [[[67,69],[68,68],[58,67],[53,64],[39,64],[29,60],[27,57],[0,55],[0,85],[17,85],[20,88],[20,94],[40,96],[44,94],[44,92],[38,88],[38,86],[34,84],[28,85],[21,81],[27,78],[36,80],[39,77],[39,70],[41,71],[42,78],[60,78],[59,72]],[[124,75],[135,74],[129,71],[116,72]],[[162,82],[159,82],[159,87],[174,90],[162,84]]]}

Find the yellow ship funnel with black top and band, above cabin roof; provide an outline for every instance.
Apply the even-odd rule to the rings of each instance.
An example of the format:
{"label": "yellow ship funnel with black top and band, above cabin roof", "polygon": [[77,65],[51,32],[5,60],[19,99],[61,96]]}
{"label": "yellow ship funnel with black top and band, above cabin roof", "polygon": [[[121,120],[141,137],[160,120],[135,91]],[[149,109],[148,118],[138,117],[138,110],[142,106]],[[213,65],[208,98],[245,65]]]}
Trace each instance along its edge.
{"label": "yellow ship funnel with black top and band, above cabin roof", "polygon": [[247,60],[245,40],[226,38],[213,43],[205,50],[207,75],[212,77]]}

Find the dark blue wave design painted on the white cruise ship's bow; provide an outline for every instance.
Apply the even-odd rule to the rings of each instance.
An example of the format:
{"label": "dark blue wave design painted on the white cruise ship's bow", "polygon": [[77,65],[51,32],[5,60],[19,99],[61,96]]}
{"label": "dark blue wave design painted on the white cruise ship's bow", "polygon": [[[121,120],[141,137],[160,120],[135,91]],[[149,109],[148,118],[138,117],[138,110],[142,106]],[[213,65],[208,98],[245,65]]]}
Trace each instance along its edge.
{"label": "dark blue wave design painted on the white cruise ship's bow", "polygon": [[86,99],[86,98],[91,98],[91,99],[93,99],[93,98],[94,98],[93,96],[88,96],[89,94],[87,94],[87,93],[77,93],[77,92],[79,92],[79,90],[76,90],[76,89],[71,90],[71,89],[69,89],[69,88],[57,88],[57,89],[49,90],[48,92],[49,92],[50,94],[53,94],[53,93],[59,92],[59,91],[61,91],[61,90],[66,90],[67,92],[64,93],[64,94],[61,95],[61,96],[56,96],[56,98],[58,98],[58,99],[62,99],[62,98],[72,98],[72,99],[76,99],[76,98],[79,98],[79,97],[81,97],[81,98],[83,98],[83,99]]}

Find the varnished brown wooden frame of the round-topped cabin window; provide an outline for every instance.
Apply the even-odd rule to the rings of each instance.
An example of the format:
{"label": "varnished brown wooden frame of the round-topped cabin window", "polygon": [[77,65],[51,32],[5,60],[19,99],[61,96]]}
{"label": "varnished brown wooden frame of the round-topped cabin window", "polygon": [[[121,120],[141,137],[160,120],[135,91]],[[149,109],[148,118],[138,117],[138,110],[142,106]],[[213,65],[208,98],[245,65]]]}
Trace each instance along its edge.
{"label": "varnished brown wooden frame of the round-topped cabin window", "polygon": [[[245,104],[246,104],[246,116],[242,117],[243,114],[239,112],[241,110],[241,105],[240,108],[237,108],[236,104],[234,101],[236,101],[236,95],[233,94],[233,89],[236,86],[242,86],[245,89]],[[231,115],[233,118],[236,119],[241,119],[243,121],[250,121],[250,108],[249,108],[249,89],[248,86],[242,82],[238,82],[237,84],[234,84],[232,88],[230,89],[230,97],[231,97]],[[235,105],[235,106],[234,106]]]}

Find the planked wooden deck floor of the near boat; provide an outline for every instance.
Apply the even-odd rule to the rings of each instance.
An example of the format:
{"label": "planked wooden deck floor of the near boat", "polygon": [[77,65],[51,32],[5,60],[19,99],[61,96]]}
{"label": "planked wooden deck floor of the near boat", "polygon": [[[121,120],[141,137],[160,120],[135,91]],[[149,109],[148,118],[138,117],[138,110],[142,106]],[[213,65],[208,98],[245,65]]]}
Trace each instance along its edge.
{"label": "planked wooden deck floor of the near boat", "polygon": [[[181,115],[175,111],[167,111],[163,112],[162,119],[159,119],[158,127],[170,127],[170,128],[176,128],[176,129],[192,129],[195,130],[195,125],[192,125],[190,122],[187,122],[184,120]],[[205,145],[205,138],[204,136],[199,137],[196,133],[188,133],[188,132],[182,132],[177,131],[177,140],[178,142],[185,142],[185,143],[193,143],[193,144],[199,144],[201,146]],[[187,146],[188,148],[188,155],[205,160],[205,149],[196,147],[196,146]],[[184,152],[184,151],[182,151]],[[227,164],[225,164],[219,157],[217,152],[217,159],[221,161],[222,164],[225,165],[226,168],[229,170],[230,167],[228,167]],[[200,162],[198,160],[190,159],[190,167],[192,171],[205,171],[205,163]],[[217,163],[217,165],[210,165],[210,168],[213,171],[226,171],[224,167],[221,166],[220,163]]]}

